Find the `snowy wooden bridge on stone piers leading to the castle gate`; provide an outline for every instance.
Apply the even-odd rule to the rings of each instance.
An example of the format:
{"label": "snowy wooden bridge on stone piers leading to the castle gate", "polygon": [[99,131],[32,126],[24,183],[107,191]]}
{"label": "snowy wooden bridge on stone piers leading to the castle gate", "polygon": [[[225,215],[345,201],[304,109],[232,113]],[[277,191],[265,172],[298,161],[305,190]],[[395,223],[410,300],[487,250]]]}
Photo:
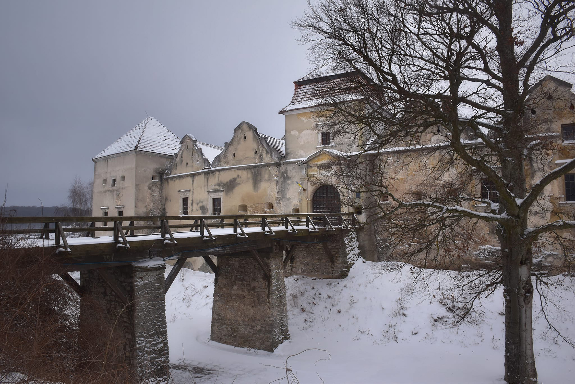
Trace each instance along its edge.
{"label": "snowy wooden bridge on stone piers leading to the castle gate", "polygon": [[[346,277],[344,236],[355,226],[347,213],[0,220],[11,227],[4,235],[47,252],[53,272],[81,298],[90,297],[81,299],[81,317],[98,310],[94,299],[105,306],[104,320],[124,337],[135,381],[158,383],[168,377],[164,294],[188,258],[203,258],[216,274],[211,339],[273,351],[289,337],[283,278]],[[169,260],[175,264],[164,279]],[[80,271],[80,284],[71,271]]]}

